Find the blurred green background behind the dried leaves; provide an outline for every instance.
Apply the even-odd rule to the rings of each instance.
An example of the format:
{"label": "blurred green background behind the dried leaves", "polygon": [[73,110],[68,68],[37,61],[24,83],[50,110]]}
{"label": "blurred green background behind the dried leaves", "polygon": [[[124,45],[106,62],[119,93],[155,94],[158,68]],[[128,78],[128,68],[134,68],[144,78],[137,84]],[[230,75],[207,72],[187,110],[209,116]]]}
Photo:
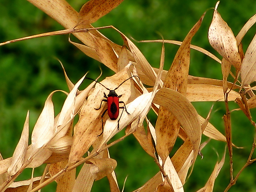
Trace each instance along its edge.
{"label": "blurred green background behind the dried leaves", "polygon": [[[68,2],[76,11],[79,11],[85,3],[82,0],[69,0]],[[209,8],[215,7],[215,3],[212,0],[124,0],[121,5],[94,23],[93,26],[113,25],[127,37],[133,37],[136,40],[160,39],[159,32],[164,39],[183,41],[203,12],[208,10],[199,31],[192,39],[192,44],[209,50],[221,59],[218,53],[211,48],[207,37],[208,27],[213,16],[213,9]],[[223,0],[219,4],[218,11],[233,33],[237,35],[247,20],[256,13],[256,4],[249,0]],[[26,0],[0,0],[0,42],[62,29],[61,25]],[[244,51],[254,37],[255,31],[256,27],[252,27],[243,39]],[[122,45],[122,39],[117,32],[113,32],[111,29],[101,30],[101,32],[115,43]],[[159,66],[161,43],[135,44],[152,66]],[[165,44],[165,70],[171,66],[177,50],[178,46]],[[0,153],[3,158],[12,156],[23,129],[27,110],[30,111],[31,133],[48,94],[57,89],[68,91],[62,68],[55,57],[62,61],[73,83],[77,82],[87,71],[90,71],[91,78],[96,78],[100,73],[99,65],[103,69],[103,77],[114,74],[103,64],[87,57],[71,45],[68,42],[68,35],[41,37],[1,46]],[[190,75],[221,80],[221,66],[213,59],[192,50]],[[83,83],[81,87],[86,87],[88,83]],[[53,96],[56,113],[61,109],[64,99],[65,95],[62,93],[56,93]],[[213,103],[194,102],[192,104],[201,116],[206,117]],[[230,102],[230,106],[231,109],[237,107],[233,102]],[[251,112],[254,119],[255,110],[253,109]],[[217,102],[213,107],[210,119],[210,123],[223,134],[222,117],[224,113],[224,103]],[[153,113],[151,112],[151,114]],[[153,122],[156,119],[153,115],[149,118]],[[242,112],[232,112],[231,118],[233,143],[244,147],[244,149],[233,149],[234,173],[237,174],[247,161],[255,132],[254,127]],[[121,135],[123,132],[117,137]],[[202,138],[202,142],[206,140],[206,137]],[[174,150],[180,145],[181,141],[178,140]],[[185,191],[194,192],[205,185],[215,163],[222,158],[224,148],[225,143],[223,142],[211,140],[208,143],[202,150],[203,159],[198,157],[192,175],[184,185]],[[173,153],[171,152],[171,155]],[[141,187],[159,171],[153,158],[143,151],[133,136],[129,136],[123,142],[111,147],[110,155],[118,163],[116,174],[120,188],[128,176],[125,184],[127,192]],[[42,171],[43,167],[38,168],[34,176],[40,176]],[[255,164],[247,167],[229,191],[256,192],[255,172]],[[31,170],[26,169],[18,179],[29,179],[30,174]],[[225,164],[216,179],[214,191],[224,191],[229,180],[229,157],[226,153]],[[42,191],[55,191],[55,186],[56,184],[53,183]],[[109,192],[107,179],[96,181],[92,191]]]}

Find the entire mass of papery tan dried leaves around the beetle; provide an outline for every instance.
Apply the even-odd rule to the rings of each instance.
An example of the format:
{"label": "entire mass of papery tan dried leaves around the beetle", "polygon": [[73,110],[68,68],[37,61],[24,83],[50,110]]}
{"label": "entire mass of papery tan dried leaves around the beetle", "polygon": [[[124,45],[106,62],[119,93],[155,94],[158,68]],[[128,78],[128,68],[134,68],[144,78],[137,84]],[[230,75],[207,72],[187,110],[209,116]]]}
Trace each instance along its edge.
{"label": "entire mass of papery tan dried leaves around the beetle", "polygon": [[[203,14],[182,43],[158,40],[162,43],[180,45],[171,68],[169,71],[163,71],[164,44],[162,45],[160,67],[153,69],[137,46],[115,27],[93,29],[90,25],[117,7],[122,0],[90,0],[82,6],[79,14],[64,0],[30,0],[30,2],[67,28],[67,30],[51,34],[74,32],[73,34],[84,44],[75,43],[69,39],[73,45],[89,57],[102,62],[117,72],[100,82],[107,89],[114,90],[131,76],[134,77],[125,81],[116,90],[118,95],[122,95],[121,101],[126,103],[127,112],[122,112],[117,121],[107,119],[107,116],[104,116],[104,129],[102,130],[101,115],[105,111],[106,105],[102,103],[100,110],[95,109],[98,109],[101,104],[104,92],[109,90],[106,90],[100,83],[92,82],[86,89],[78,91],[78,87],[85,76],[74,85],[64,70],[70,92],[69,94],[66,93],[67,98],[61,112],[56,117],[54,116],[54,105],[51,100],[55,92],[53,91],[46,99],[43,111],[34,126],[30,146],[27,144],[29,136],[27,116],[20,142],[13,157],[0,161],[0,184],[2,184],[0,189],[2,191],[8,186],[8,190],[11,190],[11,187],[17,191],[21,188],[27,190],[29,188],[27,182],[13,183],[14,179],[26,167],[38,167],[46,162],[49,165],[43,176],[33,178],[32,192],[41,189],[52,181],[57,182],[57,191],[89,192],[94,181],[105,176],[109,180],[110,190],[119,192],[114,172],[118,162],[110,157],[107,148],[132,133],[146,153],[155,159],[160,169],[158,174],[138,190],[135,190],[138,192],[183,192],[183,184],[187,179],[190,167],[194,164],[197,155],[201,153],[203,146],[208,143],[201,144],[202,134],[210,139],[226,142],[232,160],[233,143],[228,101],[236,101],[251,123],[253,122],[249,108],[256,105],[254,95],[247,101],[245,95],[240,96],[235,91],[235,89],[240,89],[239,85],[234,85],[238,76],[234,78],[234,82],[228,82],[228,77],[231,73],[231,65],[233,65],[237,72],[235,75],[241,72],[242,87],[256,80],[254,70],[255,37],[245,55],[243,55],[240,44],[242,37],[255,23],[255,16],[247,22],[238,37],[235,38],[231,28],[218,13],[219,2],[217,2],[208,38],[213,48],[223,57],[222,61],[208,51],[191,45],[192,37],[197,33],[203,21]],[[112,30],[117,31],[123,39],[123,46],[113,43],[98,32],[101,28],[112,28]],[[42,36],[45,35],[50,35],[50,33]],[[8,43],[10,42],[14,41],[8,41]],[[223,80],[189,76],[190,48],[199,50],[221,63]],[[137,76],[139,78],[136,78]],[[146,89],[143,84],[154,87]],[[95,88],[92,89],[94,86]],[[230,90],[228,91],[228,89]],[[252,91],[250,93],[253,94]],[[192,101],[225,101],[227,111],[224,115],[226,137],[209,123],[210,112],[208,117],[203,119],[190,103]],[[158,115],[158,119],[155,128],[147,120],[145,130],[142,123],[151,106]],[[73,128],[75,114],[79,115],[79,120]],[[107,142],[124,128],[126,128],[126,135],[107,145]],[[73,136],[71,136],[72,131]],[[102,136],[98,136],[102,131]],[[174,152],[172,157],[169,157],[177,137],[183,139],[183,144]],[[91,146],[93,150],[90,152],[88,150]],[[251,155],[253,152],[254,148]],[[86,153],[87,157],[83,158]],[[224,164],[224,158],[225,155],[215,165],[205,187],[199,191],[213,191],[214,182]],[[75,167],[82,163],[84,165],[76,177]],[[249,163],[247,164],[249,165]],[[46,175],[50,175],[50,178]],[[232,170],[231,181],[234,181]]]}

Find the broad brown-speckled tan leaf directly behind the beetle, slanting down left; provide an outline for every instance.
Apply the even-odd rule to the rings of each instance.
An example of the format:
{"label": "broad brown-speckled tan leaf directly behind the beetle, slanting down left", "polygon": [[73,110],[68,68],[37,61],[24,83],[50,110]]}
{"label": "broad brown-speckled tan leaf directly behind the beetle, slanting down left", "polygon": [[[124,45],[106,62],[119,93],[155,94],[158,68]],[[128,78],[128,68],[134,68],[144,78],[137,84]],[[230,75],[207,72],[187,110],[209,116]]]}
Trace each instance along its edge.
{"label": "broad brown-speckled tan leaf directly behind the beetle, slanting down left", "polygon": [[[106,78],[101,83],[109,89],[114,89],[118,87],[121,82],[128,79],[128,73],[131,70],[131,65],[126,66],[125,69],[116,73],[112,77]],[[93,82],[95,85],[95,82]],[[100,84],[95,85],[94,91],[88,96],[87,102],[82,106],[80,112],[80,119],[74,127],[74,140],[71,146],[71,153],[69,156],[69,162],[75,162],[89,149],[91,144],[97,139],[97,136],[102,132],[101,114],[105,110],[105,103],[101,105],[101,110],[95,110],[101,104],[104,98],[103,92],[106,92],[106,88]],[[126,81],[121,87],[116,90],[118,95],[123,94],[121,101],[127,103],[127,101],[132,96],[133,87],[130,81]],[[125,114],[125,112],[123,113]],[[103,117],[105,120],[107,114]]]}

